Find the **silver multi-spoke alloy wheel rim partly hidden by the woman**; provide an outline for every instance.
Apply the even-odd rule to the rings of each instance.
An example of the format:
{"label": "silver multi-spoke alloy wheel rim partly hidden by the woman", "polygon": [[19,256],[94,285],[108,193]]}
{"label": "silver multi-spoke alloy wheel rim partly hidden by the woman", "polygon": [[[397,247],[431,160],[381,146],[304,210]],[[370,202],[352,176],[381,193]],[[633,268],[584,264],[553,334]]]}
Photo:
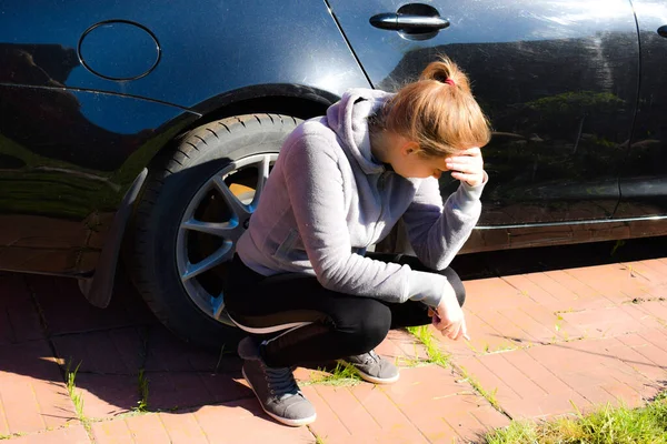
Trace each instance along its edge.
{"label": "silver multi-spoke alloy wheel rim partly hidden by the woman", "polygon": [[[195,304],[207,315],[218,322],[233,325],[225,311],[225,295],[209,293],[196,279],[213,268],[231,260],[236,250],[236,243],[246,231],[248,220],[257,209],[261,192],[269,176],[269,169],[278,159],[278,153],[253,154],[237,161],[230,162],[227,167],[213,174],[195,194],[190,204],[186,209],[180,221],[178,236],[176,242],[176,261],[178,273],[183,284],[186,293]],[[239,199],[229,186],[225,179],[241,169],[257,169],[257,184],[251,195]],[[215,190],[225,200],[225,204],[232,216],[225,222],[205,222],[195,218],[195,212],[202,203],[208,193]],[[188,254],[188,233],[201,232],[215,235],[222,240],[220,248],[207,258],[197,263],[190,262]]]}

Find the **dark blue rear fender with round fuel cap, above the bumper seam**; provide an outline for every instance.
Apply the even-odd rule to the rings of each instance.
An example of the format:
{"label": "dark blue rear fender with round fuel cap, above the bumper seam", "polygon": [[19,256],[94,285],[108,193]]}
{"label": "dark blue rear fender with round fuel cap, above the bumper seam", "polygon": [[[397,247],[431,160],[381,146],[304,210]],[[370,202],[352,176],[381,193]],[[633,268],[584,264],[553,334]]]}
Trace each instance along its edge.
{"label": "dark blue rear fender with round fuel cap, above the bumper seam", "polygon": [[[238,0],[176,0],[169,4],[72,0],[64,6],[28,0],[7,3],[2,12],[7,24],[0,27],[0,54],[21,50],[40,67],[40,60],[56,60],[66,65],[52,63],[49,68],[69,70],[67,75],[46,68],[46,77],[0,75],[0,82],[52,85],[48,80],[52,78],[64,88],[142,97],[200,113],[215,109],[212,98],[251,85],[298,84],[334,95],[351,87],[368,87],[321,1],[253,2],[250,13],[249,4]],[[96,34],[94,39],[87,37],[81,42],[99,23],[106,24],[88,34]],[[132,29],[155,36],[160,51],[157,64],[148,75],[131,81],[98,75],[137,75],[155,61],[155,49]],[[50,49],[59,53],[50,54]],[[68,51],[67,58],[60,54],[62,50]],[[96,72],[79,62],[78,58],[87,54]],[[125,69],[118,68],[119,63]]]}

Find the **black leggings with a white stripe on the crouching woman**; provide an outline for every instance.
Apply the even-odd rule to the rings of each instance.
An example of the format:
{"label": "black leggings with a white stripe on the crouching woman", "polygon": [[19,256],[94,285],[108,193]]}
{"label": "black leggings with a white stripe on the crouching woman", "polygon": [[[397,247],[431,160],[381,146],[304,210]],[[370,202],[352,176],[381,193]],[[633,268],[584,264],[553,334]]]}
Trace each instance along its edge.
{"label": "black leggings with a white stripe on the crouching woman", "polygon": [[[414,256],[379,253],[368,256],[431,271]],[[450,268],[437,273],[447,276],[462,305],[466,292],[458,274]],[[428,307],[421,302],[389,303],[338,293],[306,274],[266,278],[247,268],[238,255],[229,268],[225,304],[242,330],[265,341],[261,354],[267,365],[273,367],[330,362],[366,353],[382,342],[390,329],[431,322]]]}

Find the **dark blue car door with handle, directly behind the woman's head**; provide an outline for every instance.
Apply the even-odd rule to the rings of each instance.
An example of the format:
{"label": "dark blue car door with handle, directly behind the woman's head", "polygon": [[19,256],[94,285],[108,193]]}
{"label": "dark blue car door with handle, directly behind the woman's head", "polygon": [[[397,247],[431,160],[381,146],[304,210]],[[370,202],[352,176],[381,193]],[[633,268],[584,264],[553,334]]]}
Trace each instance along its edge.
{"label": "dark blue car door with handle, directly behind the woman's head", "polygon": [[[329,4],[375,88],[439,54],[467,71],[494,127],[480,225],[611,216],[638,84],[628,0]],[[456,185],[442,176],[444,195]]]}

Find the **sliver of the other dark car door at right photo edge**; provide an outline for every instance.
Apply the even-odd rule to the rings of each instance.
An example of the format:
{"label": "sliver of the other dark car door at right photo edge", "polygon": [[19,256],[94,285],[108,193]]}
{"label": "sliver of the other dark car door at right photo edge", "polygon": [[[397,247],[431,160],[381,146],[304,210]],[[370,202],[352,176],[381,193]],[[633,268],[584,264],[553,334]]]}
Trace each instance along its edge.
{"label": "sliver of the other dark car door at right photo edge", "polygon": [[621,170],[617,219],[667,215],[667,2],[633,0],[633,4],[639,28],[641,80],[637,120]]}

